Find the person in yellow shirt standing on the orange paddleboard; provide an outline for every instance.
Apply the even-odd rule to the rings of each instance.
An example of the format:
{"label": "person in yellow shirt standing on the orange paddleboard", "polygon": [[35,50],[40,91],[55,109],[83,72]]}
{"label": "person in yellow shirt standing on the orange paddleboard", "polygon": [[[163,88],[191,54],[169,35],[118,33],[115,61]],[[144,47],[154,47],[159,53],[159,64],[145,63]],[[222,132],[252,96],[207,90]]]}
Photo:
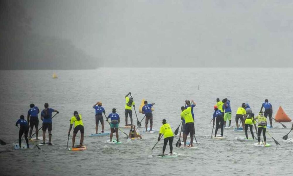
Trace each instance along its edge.
{"label": "person in yellow shirt standing on the orange paddleboard", "polygon": [[74,123],[74,130],[73,130],[73,136],[72,136],[72,148],[74,148],[75,137],[78,131],[80,131],[80,134],[81,134],[80,147],[82,147],[82,143],[84,142],[84,123],[82,123],[81,115],[78,114],[77,111],[74,111],[73,116],[70,119],[68,136],[70,135],[70,131],[71,131],[73,123]]}

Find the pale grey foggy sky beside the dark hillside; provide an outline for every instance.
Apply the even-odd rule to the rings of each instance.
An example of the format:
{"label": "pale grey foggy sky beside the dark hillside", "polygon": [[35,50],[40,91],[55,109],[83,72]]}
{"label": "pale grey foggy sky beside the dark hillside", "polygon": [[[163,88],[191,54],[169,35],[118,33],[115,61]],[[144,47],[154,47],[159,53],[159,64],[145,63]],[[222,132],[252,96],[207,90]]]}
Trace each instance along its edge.
{"label": "pale grey foggy sky beside the dark hillside", "polygon": [[102,66],[293,66],[293,1],[29,0],[24,6],[33,33],[68,39]]}

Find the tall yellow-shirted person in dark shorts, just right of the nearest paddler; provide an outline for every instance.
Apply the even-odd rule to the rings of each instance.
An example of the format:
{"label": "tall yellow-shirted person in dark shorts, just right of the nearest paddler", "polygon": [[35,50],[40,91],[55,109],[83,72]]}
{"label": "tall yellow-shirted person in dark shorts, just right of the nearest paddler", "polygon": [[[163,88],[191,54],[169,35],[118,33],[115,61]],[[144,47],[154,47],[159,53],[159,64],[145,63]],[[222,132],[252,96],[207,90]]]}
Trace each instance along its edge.
{"label": "tall yellow-shirted person in dark shorts, just right of the nearest paddler", "polygon": [[194,120],[192,118],[192,114],[191,114],[191,107],[190,104],[188,103],[188,101],[185,101],[185,103],[187,105],[189,105],[188,108],[185,109],[184,106],[181,107],[181,119],[185,120],[185,135],[186,138],[183,139],[184,140],[184,147],[186,146],[186,139],[188,134],[190,134],[190,144],[189,147],[193,147],[193,136],[194,136]]}

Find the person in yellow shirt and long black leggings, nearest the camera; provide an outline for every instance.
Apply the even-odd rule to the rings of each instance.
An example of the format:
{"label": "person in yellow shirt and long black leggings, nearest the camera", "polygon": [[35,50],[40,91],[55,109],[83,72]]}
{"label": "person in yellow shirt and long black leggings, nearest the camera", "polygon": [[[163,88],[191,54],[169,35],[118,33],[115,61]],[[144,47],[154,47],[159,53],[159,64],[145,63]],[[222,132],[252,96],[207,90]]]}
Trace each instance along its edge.
{"label": "person in yellow shirt and long black leggings, nearest the camera", "polygon": [[167,123],[166,119],[163,119],[162,123],[163,123],[163,125],[160,128],[158,141],[160,141],[161,135],[164,135],[163,154],[165,153],[165,149],[166,149],[166,146],[167,146],[168,141],[169,141],[170,153],[172,155],[173,154],[174,134],[173,134],[173,131],[171,129],[170,124]]}

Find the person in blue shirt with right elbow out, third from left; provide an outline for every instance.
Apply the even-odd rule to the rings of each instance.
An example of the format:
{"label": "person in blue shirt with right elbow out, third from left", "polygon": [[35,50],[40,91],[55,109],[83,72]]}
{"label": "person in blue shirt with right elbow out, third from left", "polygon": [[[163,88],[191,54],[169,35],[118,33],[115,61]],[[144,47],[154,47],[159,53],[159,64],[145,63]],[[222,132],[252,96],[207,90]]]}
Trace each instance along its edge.
{"label": "person in blue shirt with right elbow out, third from left", "polygon": [[49,133],[49,143],[48,145],[52,145],[51,140],[52,140],[52,112],[56,112],[59,114],[59,111],[49,108],[49,104],[45,103],[45,109],[42,110],[41,112],[41,120],[43,121],[43,126],[42,126],[42,131],[43,131],[43,143],[45,144],[45,139],[46,139],[46,131],[48,129]]}

